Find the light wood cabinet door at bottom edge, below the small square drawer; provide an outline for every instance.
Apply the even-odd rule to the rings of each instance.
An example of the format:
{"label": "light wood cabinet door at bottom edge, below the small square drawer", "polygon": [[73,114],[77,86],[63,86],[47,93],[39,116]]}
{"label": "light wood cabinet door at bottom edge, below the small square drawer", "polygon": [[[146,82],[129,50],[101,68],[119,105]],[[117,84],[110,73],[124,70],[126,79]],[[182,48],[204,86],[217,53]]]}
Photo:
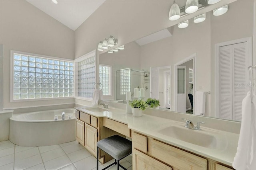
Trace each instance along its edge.
{"label": "light wood cabinet door at bottom edge, below the small square drawer", "polygon": [[134,149],[134,162],[132,162],[133,170],[172,170],[171,167],[151,158],[150,156]]}

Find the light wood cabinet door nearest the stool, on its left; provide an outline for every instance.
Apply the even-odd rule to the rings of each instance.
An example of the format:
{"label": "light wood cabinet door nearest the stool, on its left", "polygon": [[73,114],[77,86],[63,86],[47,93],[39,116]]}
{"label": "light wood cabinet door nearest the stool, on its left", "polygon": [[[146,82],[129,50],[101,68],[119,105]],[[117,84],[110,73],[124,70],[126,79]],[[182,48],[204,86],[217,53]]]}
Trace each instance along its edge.
{"label": "light wood cabinet door nearest the stool, on its left", "polygon": [[85,148],[88,149],[94,156],[97,151],[97,129],[85,124]]}

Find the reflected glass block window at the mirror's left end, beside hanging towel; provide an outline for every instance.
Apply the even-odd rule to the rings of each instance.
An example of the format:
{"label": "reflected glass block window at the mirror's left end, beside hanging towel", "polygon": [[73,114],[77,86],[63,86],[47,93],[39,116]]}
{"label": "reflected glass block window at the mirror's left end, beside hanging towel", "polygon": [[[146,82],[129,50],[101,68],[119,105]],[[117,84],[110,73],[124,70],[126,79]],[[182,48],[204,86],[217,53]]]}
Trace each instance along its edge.
{"label": "reflected glass block window at the mirror's left end, beside hanging towel", "polygon": [[100,89],[103,96],[111,95],[111,66],[100,65]]}

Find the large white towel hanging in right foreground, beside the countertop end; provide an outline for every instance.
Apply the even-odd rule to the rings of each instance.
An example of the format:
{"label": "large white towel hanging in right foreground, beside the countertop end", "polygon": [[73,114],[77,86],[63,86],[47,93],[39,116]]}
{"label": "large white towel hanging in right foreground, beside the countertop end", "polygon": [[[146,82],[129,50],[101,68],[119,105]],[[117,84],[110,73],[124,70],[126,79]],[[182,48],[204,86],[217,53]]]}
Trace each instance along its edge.
{"label": "large white towel hanging in right foreground, beside the countertop end", "polygon": [[242,102],[242,123],[233,167],[236,170],[256,170],[256,96],[250,92]]}

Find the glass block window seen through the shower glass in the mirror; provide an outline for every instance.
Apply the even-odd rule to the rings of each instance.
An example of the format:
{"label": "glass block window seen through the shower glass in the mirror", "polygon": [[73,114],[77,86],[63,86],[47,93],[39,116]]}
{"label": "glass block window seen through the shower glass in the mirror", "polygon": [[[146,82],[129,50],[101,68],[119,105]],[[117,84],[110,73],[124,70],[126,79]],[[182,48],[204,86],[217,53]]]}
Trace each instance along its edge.
{"label": "glass block window seen through the shower glass in the mirror", "polygon": [[131,72],[129,69],[120,70],[120,94],[131,91]]}

